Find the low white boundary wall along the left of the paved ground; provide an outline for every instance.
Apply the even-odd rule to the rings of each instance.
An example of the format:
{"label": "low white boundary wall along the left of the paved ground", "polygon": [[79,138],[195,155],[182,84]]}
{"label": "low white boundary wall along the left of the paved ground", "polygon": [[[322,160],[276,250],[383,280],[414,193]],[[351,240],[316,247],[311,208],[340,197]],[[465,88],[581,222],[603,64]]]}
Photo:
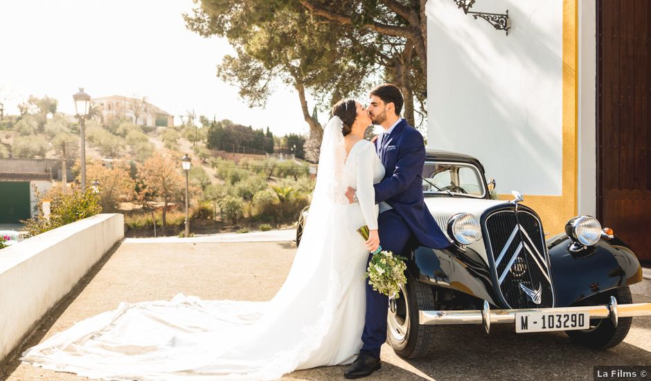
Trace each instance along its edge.
{"label": "low white boundary wall along the left of the paved ground", "polygon": [[99,214],[0,250],[0,360],[124,238],[121,214]]}

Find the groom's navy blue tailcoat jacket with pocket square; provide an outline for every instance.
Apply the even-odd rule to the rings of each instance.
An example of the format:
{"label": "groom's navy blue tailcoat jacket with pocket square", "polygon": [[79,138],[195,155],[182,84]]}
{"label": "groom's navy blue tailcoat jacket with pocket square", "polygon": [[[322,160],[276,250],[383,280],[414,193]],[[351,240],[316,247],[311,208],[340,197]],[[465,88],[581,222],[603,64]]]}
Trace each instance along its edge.
{"label": "groom's navy blue tailcoat jacket with pocket square", "polygon": [[425,143],[420,132],[403,119],[384,141],[376,139],[375,150],[384,165],[384,178],[375,184],[375,202],[391,205],[421,245],[448,247],[451,242],[429,213],[422,195]]}

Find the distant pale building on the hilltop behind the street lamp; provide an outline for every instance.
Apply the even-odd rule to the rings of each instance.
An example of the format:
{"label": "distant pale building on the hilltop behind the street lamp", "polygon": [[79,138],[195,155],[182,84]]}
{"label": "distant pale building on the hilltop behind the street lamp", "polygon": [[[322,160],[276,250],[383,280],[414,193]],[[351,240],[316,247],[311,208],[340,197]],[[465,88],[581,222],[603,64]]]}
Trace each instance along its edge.
{"label": "distant pale building on the hilltop behind the street lamp", "polygon": [[174,116],[146,100],[128,96],[105,96],[93,98],[92,102],[100,105],[104,123],[116,118],[128,118],[132,123],[150,127],[172,127],[174,125]]}

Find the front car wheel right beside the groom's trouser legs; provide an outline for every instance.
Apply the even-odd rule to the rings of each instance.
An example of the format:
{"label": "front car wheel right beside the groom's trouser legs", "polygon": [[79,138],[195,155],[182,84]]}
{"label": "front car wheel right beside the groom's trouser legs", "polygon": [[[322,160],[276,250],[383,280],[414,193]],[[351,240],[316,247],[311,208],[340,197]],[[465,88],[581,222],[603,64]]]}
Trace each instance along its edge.
{"label": "front car wheel right beside the groom's trouser legs", "polygon": [[400,357],[425,357],[434,349],[434,326],[418,323],[420,310],[434,310],[434,292],[407,272],[407,284],[400,287],[400,298],[389,299],[386,341]]}

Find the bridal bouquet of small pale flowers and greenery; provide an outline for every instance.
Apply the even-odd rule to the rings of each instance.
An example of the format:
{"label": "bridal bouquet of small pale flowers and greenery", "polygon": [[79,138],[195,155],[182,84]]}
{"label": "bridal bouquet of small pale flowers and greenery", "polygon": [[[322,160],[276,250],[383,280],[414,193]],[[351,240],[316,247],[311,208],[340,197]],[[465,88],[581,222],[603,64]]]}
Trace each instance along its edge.
{"label": "bridal bouquet of small pale flowers and greenery", "polygon": [[[357,229],[357,233],[364,240],[368,240],[366,225]],[[392,251],[382,250],[382,247],[378,247],[371,257],[371,262],[368,263],[364,277],[368,277],[368,284],[373,286],[373,290],[398,299],[400,285],[407,283],[407,278],[404,276],[404,270],[407,269],[405,260],[407,258],[404,256],[394,256]]]}

